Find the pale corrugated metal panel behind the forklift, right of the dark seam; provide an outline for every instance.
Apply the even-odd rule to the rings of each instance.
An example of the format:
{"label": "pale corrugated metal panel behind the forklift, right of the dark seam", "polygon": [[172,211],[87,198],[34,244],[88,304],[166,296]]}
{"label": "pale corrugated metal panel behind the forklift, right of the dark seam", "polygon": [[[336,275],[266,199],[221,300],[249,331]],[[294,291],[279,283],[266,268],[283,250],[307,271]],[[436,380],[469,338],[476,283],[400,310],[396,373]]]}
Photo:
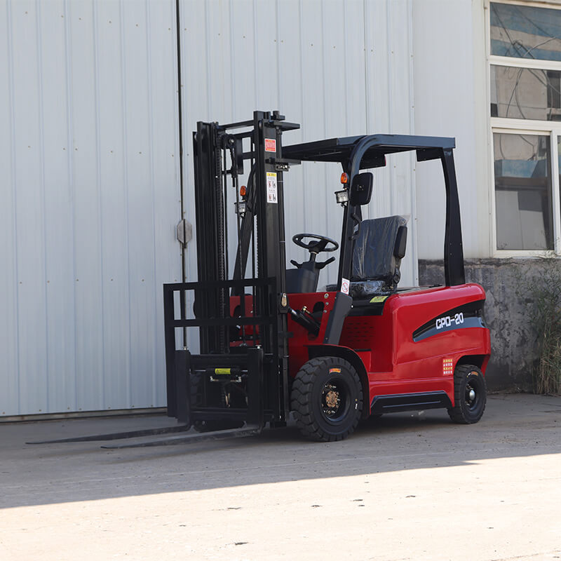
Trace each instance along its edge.
{"label": "pale corrugated metal panel behind the forklift, right of the dark seam", "polygon": [[[413,133],[410,0],[180,0],[184,138],[196,121],[251,119],[280,109],[301,130],[283,144],[365,133]],[[339,241],[338,165],[304,163],[285,177],[287,239],[314,232]],[[191,154],[184,160],[192,192]],[[388,158],[374,172],[366,217],[412,216],[402,284],[417,282],[414,156]],[[186,199],[189,201],[189,199]],[[185,207],[194,223],[193,205]],[[230,236],[233,238],[233,236]],[[231,250],[233,253],[234,248]],[[288,259],[307,253],[287,244]],[[336,254],[333,254],[336,255]],[[196,277],[196,245],[187,278]],[[320,285],[337,280],[332,264]]]}

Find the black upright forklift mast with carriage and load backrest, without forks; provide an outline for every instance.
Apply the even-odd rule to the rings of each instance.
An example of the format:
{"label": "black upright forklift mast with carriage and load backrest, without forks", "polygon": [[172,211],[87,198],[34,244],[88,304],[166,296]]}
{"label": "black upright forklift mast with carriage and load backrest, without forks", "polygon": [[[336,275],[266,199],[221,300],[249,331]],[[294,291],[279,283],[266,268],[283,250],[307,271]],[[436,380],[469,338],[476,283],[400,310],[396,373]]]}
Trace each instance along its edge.
{"label": "black upright forklift mast with carriage and load backrest, without forks", "polygon": [[[285,420],[288,302],[283,173],[290,162],[282,157],[281,138],[283,132],[297,128],[299,125],[285,122],[278,111],[255,111],[252,121],[226,125],[197,123],[193,144],[198,282],[164,286],[170,416],[191,422],[221,414],[243,418],[243,412],[234,412],[232,407],[226,413],[206,410],[197,417],[185,381],[187,368],[191,374],[208,375],[212,371],[216,375],[229,372],[236,379],[248,377],[249,386],[260,379],[255,383],[254,403],[248,397],[248,409],[255,405],[250,416],[259,424]],[[248,181],[241,186],[244,170],[248,171]],[[238,240],[230,271],[228,234],[232,227],[229,229],[228,217],[232,213],[228,209],[232,205],[236,208]],[[187,318],[189,291],[194,292],[194,319]],[[180,319],[175,319],[177,295]],[[231,302],[236,297],[240,310],[233,318]],[[176,350],[177,327],[198,327],[198,355],[191,355],[187,349]],[[244,334],[241,344],[231,346],[231,330],[240,327]],[[254,372],[248,364],[254,365]],[[257,372],[260,368],[262,372]],[[265,398],[258,407],[261,392]]]}

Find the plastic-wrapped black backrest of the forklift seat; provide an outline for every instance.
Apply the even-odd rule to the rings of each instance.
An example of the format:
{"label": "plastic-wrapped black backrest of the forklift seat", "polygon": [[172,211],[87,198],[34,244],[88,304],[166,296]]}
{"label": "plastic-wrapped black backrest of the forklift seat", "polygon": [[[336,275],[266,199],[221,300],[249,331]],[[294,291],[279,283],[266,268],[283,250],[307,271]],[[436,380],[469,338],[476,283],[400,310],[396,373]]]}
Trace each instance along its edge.
{"label": "plastic-wrapped black backrest of the forklift seat", "polygon": [[381,280],[395,288],[405,255],[407,218],[387,216],[363,220],[353,250],[351,281]]}

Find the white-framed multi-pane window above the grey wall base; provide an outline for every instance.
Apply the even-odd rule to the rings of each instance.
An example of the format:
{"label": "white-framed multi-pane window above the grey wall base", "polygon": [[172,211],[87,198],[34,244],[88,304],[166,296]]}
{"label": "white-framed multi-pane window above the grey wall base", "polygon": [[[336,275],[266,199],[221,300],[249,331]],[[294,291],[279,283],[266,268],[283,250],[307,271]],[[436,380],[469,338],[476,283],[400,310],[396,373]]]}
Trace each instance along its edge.
{"label": "white-framed multi-pane window above the grey wall base", "polygon": [[489,4],[494,238],[561,255],[561,9]]}

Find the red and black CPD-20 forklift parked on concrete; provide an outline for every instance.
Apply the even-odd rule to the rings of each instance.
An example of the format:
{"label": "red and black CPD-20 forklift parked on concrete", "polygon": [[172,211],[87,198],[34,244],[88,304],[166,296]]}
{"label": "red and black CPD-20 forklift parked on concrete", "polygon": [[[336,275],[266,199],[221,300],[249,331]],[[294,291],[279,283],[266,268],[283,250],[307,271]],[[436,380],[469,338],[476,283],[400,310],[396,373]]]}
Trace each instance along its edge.
{"label": "red and black CPD-20 forklift parked on concrete", "polygon": [[[198,280],[163,286],[168,416],[180,424],[66,441],[191,427],[196,434],[109,447],[217,440],[285,426],[292,412],[304,437],[331,442],[392,412],[445,407],[464,424],[482,417],[491,346],[485,291],[464,277],[454,139],[363,135],[283,146],[283,133],[297,128],[278,111],[197,123]],[[373,190],[366,170],[405,151],[442,163],[443,286],[399,288],[407,219],[362,218]],[[287,268],[285,175],[306,162],[342,166],[334,201],[342,233],[339,242],[295,234],[309,259]],[[338,264],[319,260],[337,249]],[[318,290],[327,266],[338,266],[337,283]]]}

